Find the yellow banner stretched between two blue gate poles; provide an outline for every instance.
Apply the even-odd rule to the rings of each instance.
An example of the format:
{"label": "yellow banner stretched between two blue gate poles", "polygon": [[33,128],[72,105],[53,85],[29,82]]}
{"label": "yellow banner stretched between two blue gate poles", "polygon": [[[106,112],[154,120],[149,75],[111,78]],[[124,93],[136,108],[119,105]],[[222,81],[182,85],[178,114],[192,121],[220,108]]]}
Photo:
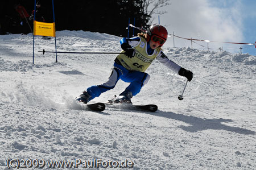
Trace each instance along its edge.
{"label": "yellow banner stretched between two blue gate poles", "polygon": [[34,35],[55,37],[55,23],[38,22],[34,20]]}

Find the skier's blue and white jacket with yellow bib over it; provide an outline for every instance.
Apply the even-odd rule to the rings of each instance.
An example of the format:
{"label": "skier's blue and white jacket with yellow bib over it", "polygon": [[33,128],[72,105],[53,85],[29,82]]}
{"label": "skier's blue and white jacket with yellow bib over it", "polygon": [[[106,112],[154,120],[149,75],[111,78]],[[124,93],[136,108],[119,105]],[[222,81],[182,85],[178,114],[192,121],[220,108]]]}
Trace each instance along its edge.
{"label": "skier's blue and white jacket with yellow bib over it", "polygon": [[179,74],[181,67],[174,63],[174,61],[169,60],[160,47],[154,50],[151,49],[149,43],[142,36],[135,36],[134,38],[126,39],[126,41],[135,49],[134,57],[127,57],[124,54],[125,51],[122,51],[121,53],[123,54],[117,56],[118,61],[126,69],[144,72],[151,65],[152,61],[157,59],[160,63]]}

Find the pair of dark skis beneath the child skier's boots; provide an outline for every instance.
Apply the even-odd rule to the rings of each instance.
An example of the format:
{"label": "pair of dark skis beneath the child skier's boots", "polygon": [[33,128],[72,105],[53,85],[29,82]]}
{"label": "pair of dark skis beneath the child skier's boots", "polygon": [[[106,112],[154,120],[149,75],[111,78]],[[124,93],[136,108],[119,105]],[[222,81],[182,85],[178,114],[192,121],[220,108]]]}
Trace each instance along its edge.
{"label": "pair of dark skis beneath the child skier's boots", "polygon": [[143,110],[143,111],[151,111],[155,112],[158,110],[158,106],[156,105],[133,105],[131,103],[81,103],[81,105],[85,105],[88,107],[88,109],[93,110],[93,111],[104,111],[107,106],[110,107],[117,107],[117,108],[122,108],[122,109],[131,109],[131,110]]}

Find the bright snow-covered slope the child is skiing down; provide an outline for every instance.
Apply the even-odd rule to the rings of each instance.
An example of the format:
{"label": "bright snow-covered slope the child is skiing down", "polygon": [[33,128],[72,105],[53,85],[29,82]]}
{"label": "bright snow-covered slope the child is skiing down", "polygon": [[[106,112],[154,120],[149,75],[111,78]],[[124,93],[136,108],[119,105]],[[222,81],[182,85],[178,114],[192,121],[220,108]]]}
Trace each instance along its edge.
{"label": "bright snow-covered slope the child is skiing down", "polygon": [[[121,51],[117,36],[84,31],[56,36],[58,51]],[[256,56],[163,47],[169,59],[194,73],[184,99],[177,97],[186,79],[156,60],[147,70],[150,81],[132,98],[135,104],[158,105],[156,113],[108,107],[97,113],[67,104],[107,80],[116,55],[59,53],[55,63],[55,54],[38,52],[43,49],[55,51],[54,40],[35,38],[33,65],[31,34],[0,36],[0,169],[7,159],[256,169]],[[106,102],[127,85],[119,81],[94,101]]]}

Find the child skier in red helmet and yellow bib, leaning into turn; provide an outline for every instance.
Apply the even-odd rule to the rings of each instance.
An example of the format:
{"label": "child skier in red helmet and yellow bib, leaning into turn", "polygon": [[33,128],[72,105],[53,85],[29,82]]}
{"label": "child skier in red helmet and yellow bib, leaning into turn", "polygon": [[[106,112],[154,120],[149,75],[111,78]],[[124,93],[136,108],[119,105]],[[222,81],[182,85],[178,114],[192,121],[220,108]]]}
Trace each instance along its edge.
{"label": "child skier in red helmet and yellow bib, leaning into turn", "polygon": [[166,42],[167,35],[166,28],[160,24],[153,24],[148,28],[146,34],[140,33],[134,38],[121,39],[123,51],[114,60],[114,67],[109,80],[104,84],[89,87],[76,98],[77,101],[87,103],[100,96],[101,93],[113,89],[117,81],[121,79],[130,82],[130,85],[118,97],[114,98],[114,102],[131,103],[131,98],[138,94],[142,86],[146,85],[150,79],[150,75],[144,71],[154,59],[158,59],[160,63],[191,81],[193,73],[169,60],[160,48]]}

